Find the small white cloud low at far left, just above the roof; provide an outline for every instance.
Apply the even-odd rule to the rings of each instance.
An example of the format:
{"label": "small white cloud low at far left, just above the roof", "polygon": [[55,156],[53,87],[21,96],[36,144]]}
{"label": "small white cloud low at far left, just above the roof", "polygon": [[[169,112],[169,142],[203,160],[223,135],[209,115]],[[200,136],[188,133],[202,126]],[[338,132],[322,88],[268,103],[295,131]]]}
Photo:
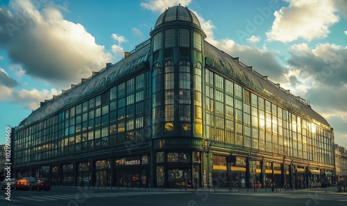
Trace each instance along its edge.
{"label": "small white cloud low at far left, just above the roof", "polygon": [[40,107],[40,102],[44,100],[50,100],[53,95],[58,95],[58,91],[55,88],[52,88],[51,91],[43,89],[38,91],[36,88],[32,90],[22,89],[14,93],[15,102],[19,102],[26,106],[27,109],[35,110]]}

